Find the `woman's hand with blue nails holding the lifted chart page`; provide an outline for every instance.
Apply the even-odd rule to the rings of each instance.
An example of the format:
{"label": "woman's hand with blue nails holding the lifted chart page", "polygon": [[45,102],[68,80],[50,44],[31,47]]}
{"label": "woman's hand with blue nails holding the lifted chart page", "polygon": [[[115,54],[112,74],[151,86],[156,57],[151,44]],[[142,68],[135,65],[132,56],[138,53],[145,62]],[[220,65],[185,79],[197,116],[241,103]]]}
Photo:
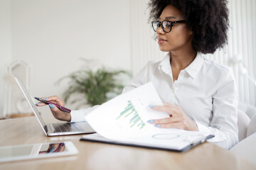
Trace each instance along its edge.
{"label": "woman's hand with blue nails holding the lifted chart page", "polygon": [[179,106],[174,106],[169,103],[164,103],[164,106],[152,106],[154,111],[163,111],[169,113],[170,118],[163,118],[158,120],[149,120],[151,124],[155,124],[158,128],[178,128],[183,130],[198,131],[196,122],[182,111]]}

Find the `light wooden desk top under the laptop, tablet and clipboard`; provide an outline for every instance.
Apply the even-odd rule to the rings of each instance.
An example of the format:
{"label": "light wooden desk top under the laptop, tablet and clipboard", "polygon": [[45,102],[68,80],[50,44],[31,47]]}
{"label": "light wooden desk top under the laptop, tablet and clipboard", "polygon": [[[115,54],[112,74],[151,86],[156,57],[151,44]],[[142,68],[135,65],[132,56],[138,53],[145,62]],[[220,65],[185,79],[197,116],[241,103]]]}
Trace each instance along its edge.
{"label": "light wooden desk top under the laptop, tablet and clipboard", "polygon": [[185,153],[80,142],[82,135],[46,137],[35,117],[0,120],[0,146],[72,141],[77,156],[0,163],[0,169],[256,169],[211,143]]}

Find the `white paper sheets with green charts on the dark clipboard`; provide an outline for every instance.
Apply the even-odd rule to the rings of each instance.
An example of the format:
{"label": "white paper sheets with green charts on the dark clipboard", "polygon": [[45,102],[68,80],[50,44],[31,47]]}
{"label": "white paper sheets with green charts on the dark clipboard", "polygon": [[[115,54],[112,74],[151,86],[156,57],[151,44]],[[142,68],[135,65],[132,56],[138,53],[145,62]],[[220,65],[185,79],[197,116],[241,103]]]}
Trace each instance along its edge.
{"label": "white paper sheets with green charts on the dark clipboard", "polygon": [[141,145],[183,148],[208,134],[178,129],[156,128],[148,120],[169,118],[168,113],[154,111],[149,105],[162,106],[153,84],[121,94],[85,116],[102,137]]}

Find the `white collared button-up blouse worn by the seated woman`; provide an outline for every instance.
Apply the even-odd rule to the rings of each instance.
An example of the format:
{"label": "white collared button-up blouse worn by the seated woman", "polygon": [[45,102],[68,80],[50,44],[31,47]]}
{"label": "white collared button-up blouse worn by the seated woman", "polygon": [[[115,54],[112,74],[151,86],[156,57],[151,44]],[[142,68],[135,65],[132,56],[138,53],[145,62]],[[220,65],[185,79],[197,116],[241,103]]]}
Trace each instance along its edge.
{"label": "white collared button-up blouse worn by the seated woman", "polygon": [[[201,53],[174,81],[170,53],[161,62],[148,62],[123,93],[151,81],[161,101],[180,106],[201,132],[215,135],[209,142],[230,149],[238,142],[238,88],[228,67]],[[83,121],[97,106],[71,112],[71,121]]]}

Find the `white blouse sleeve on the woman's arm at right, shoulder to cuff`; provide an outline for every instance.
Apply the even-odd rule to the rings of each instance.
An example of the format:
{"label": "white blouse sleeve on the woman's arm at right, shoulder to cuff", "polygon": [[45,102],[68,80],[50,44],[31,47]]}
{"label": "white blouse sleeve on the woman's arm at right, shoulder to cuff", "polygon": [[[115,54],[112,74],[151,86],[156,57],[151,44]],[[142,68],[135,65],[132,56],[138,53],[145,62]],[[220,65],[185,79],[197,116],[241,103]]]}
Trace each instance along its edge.
{"label": "white blouse sleeve on the woman's arm at right, shoulder to cuff", "polygon": [[238,88],[231,69],[213,95],[213,119],[210,126],[197,123],[198,130],[215,135],[208,142],[230,149],[238,142]]}

